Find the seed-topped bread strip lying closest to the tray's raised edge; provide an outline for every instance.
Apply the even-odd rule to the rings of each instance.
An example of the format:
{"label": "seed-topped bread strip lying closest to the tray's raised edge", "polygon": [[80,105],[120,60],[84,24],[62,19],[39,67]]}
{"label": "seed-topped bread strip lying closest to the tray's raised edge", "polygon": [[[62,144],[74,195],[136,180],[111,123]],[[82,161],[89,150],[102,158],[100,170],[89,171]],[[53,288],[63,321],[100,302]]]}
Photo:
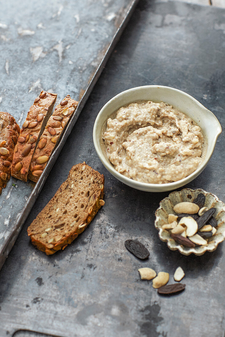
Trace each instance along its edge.
{"label": "seed-topped bread strip lying closest to the tray's raised edge", "polygon": [[[41,176],[48,159],[58,144],[62,131],[73,115],[78,102],[67,95],[59,105],[56,106],[53,114],[48,120],[38,146],[36,147],[30,167],[28,178],[37,182]],[[44,161],[42,163],[42,161]]]}

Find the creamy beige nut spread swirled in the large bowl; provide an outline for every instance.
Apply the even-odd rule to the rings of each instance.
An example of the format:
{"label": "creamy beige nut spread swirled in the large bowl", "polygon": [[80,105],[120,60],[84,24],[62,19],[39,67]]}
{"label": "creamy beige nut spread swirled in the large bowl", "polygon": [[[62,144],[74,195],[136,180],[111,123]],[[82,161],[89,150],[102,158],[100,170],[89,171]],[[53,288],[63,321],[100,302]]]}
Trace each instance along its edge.
{"label": "creamy beige nut spread swirled in the large bowl", "polygon": [[200,127],[164,102],[120,108],[115,119],[107,120],[103,139],[115,169],[145,183],[180,180],[202,162]]}

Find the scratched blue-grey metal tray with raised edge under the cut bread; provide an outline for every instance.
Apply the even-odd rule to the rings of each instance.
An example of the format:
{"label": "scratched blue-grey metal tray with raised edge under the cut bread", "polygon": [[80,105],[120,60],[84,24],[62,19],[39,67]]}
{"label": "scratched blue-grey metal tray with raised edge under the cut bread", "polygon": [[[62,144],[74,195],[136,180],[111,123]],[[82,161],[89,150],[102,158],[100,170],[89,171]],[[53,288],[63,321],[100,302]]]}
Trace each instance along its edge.
{"label": "scratched blue-grey metal tray with raised edge under the cut bread", "polygon": [[136,2],[1,2],[1,111],[21,126],[42,89],[58,93],[57,104],[68,93],[82,98],[36,186],[11,178],[2,191],[0,269]]}

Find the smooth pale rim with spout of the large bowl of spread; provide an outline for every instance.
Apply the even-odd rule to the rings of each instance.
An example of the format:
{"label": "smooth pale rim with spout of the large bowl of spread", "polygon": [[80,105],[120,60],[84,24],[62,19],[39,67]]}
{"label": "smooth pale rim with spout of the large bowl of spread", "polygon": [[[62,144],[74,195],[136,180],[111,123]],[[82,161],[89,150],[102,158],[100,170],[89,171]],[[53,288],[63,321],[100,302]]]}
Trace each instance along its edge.
{"label": "smooth pale rim with spout of the large bowl of spread", "polygon": [[[98,129],[99,129],[99,122],[100,119],[102,117],[102,115],[104,115],[105,109],[115,100],[117,100],[118,98],[120,98],[123,95],[126,95],[129,92],[133,92],[136,90],[144,90],[144,89],[150,89],[150,88],[158,88],[158,89],[170,89],[172,91],[177,92],[178,94],[182,94],[185,95],[186,97],[190,98],[196,105],[198,105],[201,109],[209,112],[211,114],[211,117],[213,117],[215,119],[215,122],[217,123],[217,133],[214,136],[214,140],[213,142],[210,144],[211,145],[211,151],[209,152],[209,154],[206,156],[206,158],[203,160],[202,165],[200,165],[197,170],[195,170],[193,173],[191,173],[189,176],[174,181],[172,183],[166,183],[166,184],[153,184],[153,183],[144,183],[141,181],[137,181],[137,180],[133,180],[131,178],[128,178],[124,175],[122,175],[121,173],[119,173],[118,171],[115,170],[113,164],[109,164],[108,161],[105,159],[104,155],[102,154],[102,150],[101,150],[101,146],[100,146],[100,140],[98,139],[97,133],[98,133]],[[127,103],[126,103],[127,104]],[[123,105],[121,105],[122,107]],[[107,117],[108,118],[108,117]],[[102,125],[101,125],[102,127]],[[185,93],[184,91],[181,91],[179,89],[176,88],[172,88],[172,87],[168,87],[168,86],[161,86],[161,85],[147,85],[147,86],[140,86],[140,87],[134,87],[134,88],[130,88],[127,90],[124,90],[122,92],[120,92],[119,94],[117,94],[116,96],[112,97],[108,102],[106,102],[104,104],[104,106],[102,107],[102,109],[100,110],[100,112],[98,113],[95,123],[94,123],[94,127],[93,127],[93,142],[94,142],[94,147],[95,150],[98,154],[99,159],[101,160],[102,164],[105,166],[105,168],[114,176],[116,177],[118,180],[122,181],[123,183],[125,183],[128,186],[134,187],[134,188],[138,188],[138,189],[143,189],[145,191],[147,190],[173,190],[176,189],[178,187],[181,187],[187,183],[189,183],[190,181],[192,181],[196,176],[198,176],[206,167],[210,157],[213,154],[215,145],[216,145],[216,141],[218,136],[220,135],[220,133],[222,132],[222,127],[220,125],[220,122],[218,121],[217,117],[213,114],[213,112],[211,112],[210,110],[208,110],[207,108],[205,108],[205,106],[203,104],[201,104],[196,98],[192,97],[191,95]]]}

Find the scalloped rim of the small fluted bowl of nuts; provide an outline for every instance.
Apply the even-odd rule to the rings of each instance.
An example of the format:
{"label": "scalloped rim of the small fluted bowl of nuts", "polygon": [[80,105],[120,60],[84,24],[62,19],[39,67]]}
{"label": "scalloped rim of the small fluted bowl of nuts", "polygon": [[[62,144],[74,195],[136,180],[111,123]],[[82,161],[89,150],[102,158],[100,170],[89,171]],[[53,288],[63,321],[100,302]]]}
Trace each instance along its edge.
{"label": "scalloped rim of the small fluted bowl of nuts", "polygon": [[[205,190],[202,189],[202,188],[189,188],[189,187],[185,187],[185,188],[181,189],[180,191],[173,191],[173,192],[171,192],[168,196],[166,196],[165,198],[163,198],[163,199],[160,201],[159,207],[156,209],[156,211],[155,211],[155,213],[154,213],[154,215],[155,215],[154,227],[155,227],[155,228],[157,229],[157,231],[158,231],[158,237],[159,237],[159,239],[160,239],[161,241],[166,242],[167,247],[168,247],[170,250],[172,250],[172,251],[178,250],[182,255],[188,256],[188,255],[190,255],[190,254],[194,254],[194,255],[196,255],[196,256],[201,256],[201,255],[203,255],[206,251],[208,251],[208,252],[213,252],[213,251],[215,251],[215,250],[217,249],[219,243],[221,243],[221,242],[224,241],[224,239],[225,239],[225,231],[223,232],[223,235],[222,235],[223,238],[221,238],[220,240],[218,240],[217,242],[215,242],[214,246],[213,246],[213,247],[210,247],[210,248],[209,248],[208,246],[199,246],[199,247],[195,247],[195,248],[184,249],[184,248],[182,247],[182,245],[180,245],[179,243],[176,243],[176,241],[173,240],[172,238],[164,239],[164,238],[161,237],[161,233],[163,232],[163,228],[161,228],[161,227],[158,226],[158,221],[160,220],[160,218],[159,218],[159,215],[158,215],[157,213],[158,213],[158,211],[159,211],[160,209],[163,209],[163,204],[164,204],[167,200],[170,200],[172,194],[175,194],[175,193],[178,193],[178,194],[179,194],[179,193],[181,193],[181,192],[184,191],[184,190],[186,190],[187,192],[195,192],[195,191],[198,191],[199,193],[210,194],[210,195],[212,195],[212,196],[215,198],[215,201],[216,201],[217,203],[221,203],[221,204],[223,205],[223,207],[225,208],[224,203],[218,198],[217,195],[215,195],[214,193],[211,193],[211,192],[207,192],[207,191],[205,191]],[[172,240],[175,241],[175,244],[176,244],[176,246],[174,246],[174,247],[171,247],[171,245],[170,245],[170,243],[171,243]],[[200,248],[200,247],[204,247],[204,249],[203,249],[201,252],[198,252],[197,249]]]}

